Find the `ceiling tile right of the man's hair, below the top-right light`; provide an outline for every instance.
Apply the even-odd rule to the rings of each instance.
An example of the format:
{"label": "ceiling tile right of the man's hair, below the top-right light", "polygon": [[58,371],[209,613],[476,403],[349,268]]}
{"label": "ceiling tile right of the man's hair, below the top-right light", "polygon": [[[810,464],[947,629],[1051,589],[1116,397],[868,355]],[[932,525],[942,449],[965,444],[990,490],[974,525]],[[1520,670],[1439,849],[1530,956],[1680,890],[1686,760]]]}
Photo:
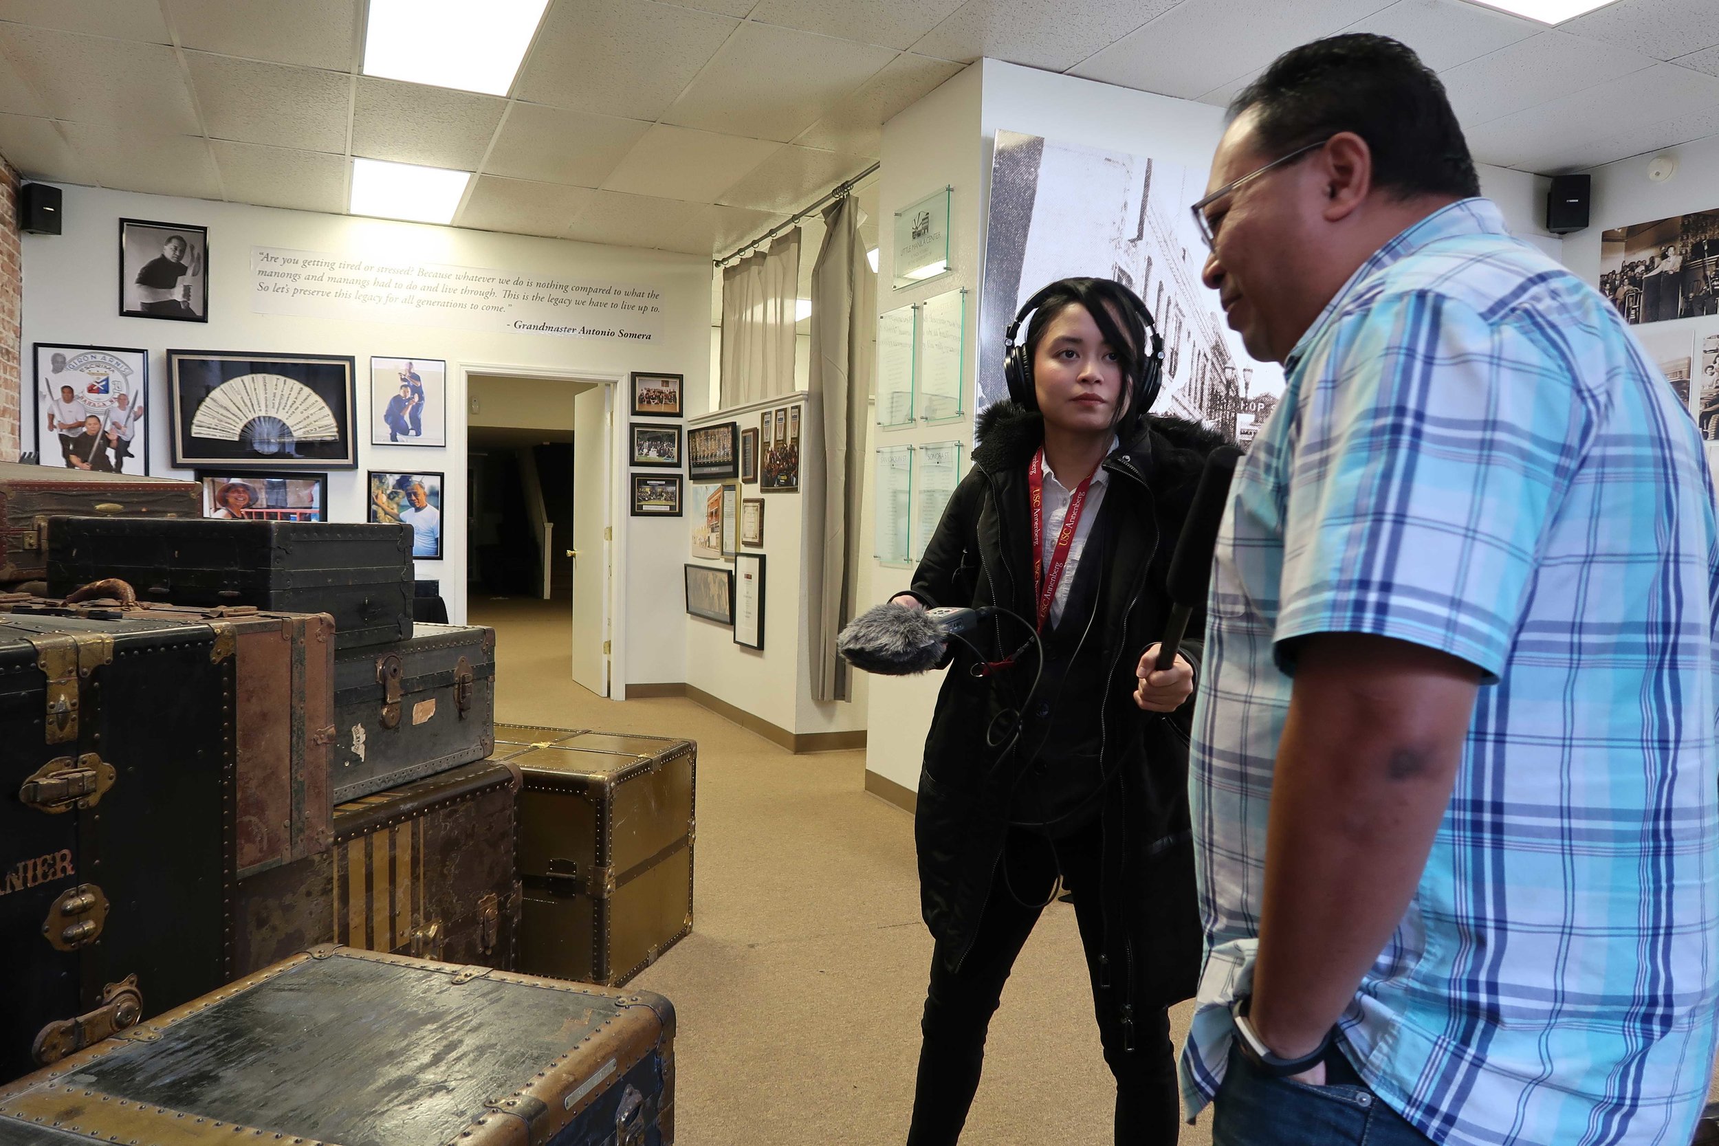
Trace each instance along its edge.
{"label": "ceiling tile right of the man's hair, below the top-right light", "polygon": [[1463,125],[1485,124],[1568,96],[1607,79],[1652,67],[1638,52],[1611,48],[1561,31],[1544,31],[1458,64],[1439,79]]}

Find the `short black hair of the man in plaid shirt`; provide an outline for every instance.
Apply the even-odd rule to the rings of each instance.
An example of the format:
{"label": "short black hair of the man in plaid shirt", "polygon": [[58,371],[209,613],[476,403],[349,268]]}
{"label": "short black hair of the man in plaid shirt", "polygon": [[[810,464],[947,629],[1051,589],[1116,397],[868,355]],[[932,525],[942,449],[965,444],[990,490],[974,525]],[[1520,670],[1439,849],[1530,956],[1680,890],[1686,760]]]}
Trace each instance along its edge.
{"label": "short black hair of the man in plaid shirt", "polygon": [[1480,194],[1444,84],[1389,36],[1349,33],[1284,52],[1229,103],[1229,119],[1250,108],[1274,156],[1351,131],[1373,153],[1373,184],[1399,198]]}

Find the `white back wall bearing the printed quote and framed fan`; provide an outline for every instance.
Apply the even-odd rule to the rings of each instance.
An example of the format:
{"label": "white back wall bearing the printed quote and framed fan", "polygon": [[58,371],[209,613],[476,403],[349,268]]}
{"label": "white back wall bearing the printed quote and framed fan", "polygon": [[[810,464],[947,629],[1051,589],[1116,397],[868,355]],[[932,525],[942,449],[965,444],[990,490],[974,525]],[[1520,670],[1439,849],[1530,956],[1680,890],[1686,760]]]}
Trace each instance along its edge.
{"label": "white back wall bearing the printed quote and framed fan", "polygon": [[[120,318],[119,218],[196,223],[210,230],[210,321],[180,323]],[[335,521],[364,519],[366,469],[444,471],[444,553],[419,562],[419,577],[438,577],[456,619],[466,615],[466,368],[554,369],[581,378],[619,380],[615,402],[615,577],[624,582],[626,615],[617,617],[614,679],[682,680],[684,619],[664,601],[681,600],[684,522],[629,519],[622,436],[629,371],[686,375],[689,412],[705,409],[710,369],[710,263],[686,254],[607,247],[557,239],[502,235],[454,227],[282,211],[237,203],[65,187],[64,235],[24,235],[24,354],[34,342],[144,347],[150,351],[150,462],[158,476],[172,471],[165,412],[165,351],[273,351],[351,354],[358,364],[356,471],[330,471],[328,503]],[[646,283],[664,294],[664,338],[652,347],[595,338],[516,332],[452,330],[258,314],[249,301],[253,246],[306,251],[407,256],[428,263],[517,268],[545,275]],[[445,359],[449,364],[449,443],[445,448],[370,445],[370,356]],[[502,368],[502,369],[497,369]],[[31,366],[24,369],[21,418],[34,419]],[[569,423],[571,424],[571,423]],[[31,438],[26,430],[24,448]]]}

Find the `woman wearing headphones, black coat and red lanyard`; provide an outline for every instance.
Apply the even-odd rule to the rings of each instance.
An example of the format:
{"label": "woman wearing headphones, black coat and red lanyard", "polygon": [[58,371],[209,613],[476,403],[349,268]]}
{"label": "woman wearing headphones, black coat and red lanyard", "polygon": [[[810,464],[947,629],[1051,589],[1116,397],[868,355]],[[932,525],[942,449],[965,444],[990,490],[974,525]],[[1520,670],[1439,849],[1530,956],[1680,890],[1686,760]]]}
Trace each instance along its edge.
{"label": "woman wearing headphones, black coat and red lanyard", "polygon": [[1171,550],[1220,438],[1147,416],[1162,361],[1148,323],[1105,278],[1052,283],[1021,308],[1011,400],[982,414],[973,469],[913,589],[892,598],[1009,610],[973,646],[951,641],[925,742],[915,835],[937,950],[909,1146],[959,1137],[985,1027],[1059,876],[1117,1082],[1116,1141],[1176,1141],[1165,1007],[1193,995],[1200,966],[1186,799],[1198,644],[1171,670],[1153,661]]}

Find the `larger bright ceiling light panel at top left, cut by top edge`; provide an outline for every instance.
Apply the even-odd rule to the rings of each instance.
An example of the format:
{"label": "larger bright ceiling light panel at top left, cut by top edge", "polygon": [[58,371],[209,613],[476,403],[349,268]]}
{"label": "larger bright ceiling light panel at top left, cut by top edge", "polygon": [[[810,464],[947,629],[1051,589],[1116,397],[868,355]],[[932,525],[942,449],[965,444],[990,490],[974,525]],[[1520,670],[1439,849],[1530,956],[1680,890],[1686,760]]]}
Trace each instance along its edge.
{"label": "larger bright ceiling light panel at top left, cut by top edge", "polygon": [[505,96],[548,0],[370,0],[364,76]]}

